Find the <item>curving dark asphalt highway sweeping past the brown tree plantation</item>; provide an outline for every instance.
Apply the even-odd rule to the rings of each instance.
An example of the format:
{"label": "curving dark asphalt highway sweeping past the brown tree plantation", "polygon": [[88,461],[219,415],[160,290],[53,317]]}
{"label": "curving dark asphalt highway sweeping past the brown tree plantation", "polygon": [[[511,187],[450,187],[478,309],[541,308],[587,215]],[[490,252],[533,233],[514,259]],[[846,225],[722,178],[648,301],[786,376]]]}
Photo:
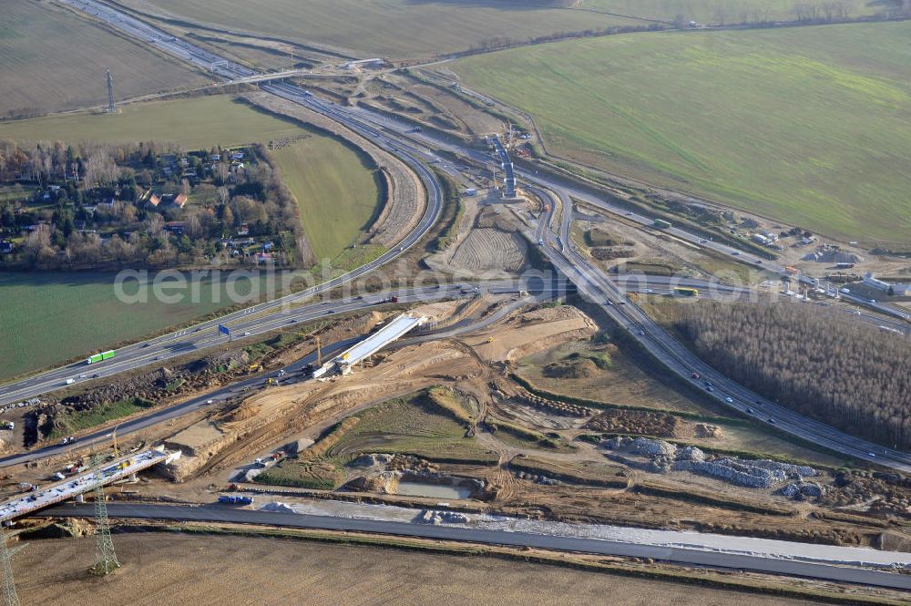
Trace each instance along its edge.
{"label": "curving dark asphalt highway sweeping past the brown tree plantation", "polygon": [[[564,203],[564,210],[570,208],[568,194],[558,191]],[[564,214],[571,216],[570,213]],[[542,252],[548,260],[576,284],[578,292],[589,301],[598,304],[609,317],[626,329],[630,337],[638,341],[661,365],[665,366],[682,380],[689,381],[697,389],[702,389],[705,382],[710,382],[712,391],[706,395],[714,398],[722,406],[729,406],[743,415],[754,416],[769,426],[774,426],[795,437],[821,447],[829,448],[850,457],[855,457],[892,467],[904,472],[911,472],[911,455],[875,445],[866,440],[852,437],[832,426],[824,425],[805,416],[794,413],[783,406],[753,393],[737,384],[718,371],[705,364],[695,354],[691,354],[678,343],[659,324],[655,323],[638,305],[627,301],[614,282],[596,266],[576,252],[569,240],[570,221],[561,221],[560,238],[567,242],[565,249],[558,250],[553,242],[552,232],[547,232]],[[695,372],[699,376],[693,378]],[[728,401],[728,398],[731,401]],[[752,411],[752,412],[751,412]]]}

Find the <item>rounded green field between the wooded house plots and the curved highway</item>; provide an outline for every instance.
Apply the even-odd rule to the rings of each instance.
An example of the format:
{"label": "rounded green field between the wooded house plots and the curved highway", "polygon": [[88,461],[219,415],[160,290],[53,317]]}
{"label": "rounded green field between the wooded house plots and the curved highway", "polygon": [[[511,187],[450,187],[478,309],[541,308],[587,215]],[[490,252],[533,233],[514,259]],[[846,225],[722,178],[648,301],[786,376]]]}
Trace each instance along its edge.
{"label": "rounded green field between the wooded house plots and the curved highway", "polygon": [[334,259],[370,227],[382,200],[379,175],[363,154],[337,139],[310,137],[273,156],[317,259]]}

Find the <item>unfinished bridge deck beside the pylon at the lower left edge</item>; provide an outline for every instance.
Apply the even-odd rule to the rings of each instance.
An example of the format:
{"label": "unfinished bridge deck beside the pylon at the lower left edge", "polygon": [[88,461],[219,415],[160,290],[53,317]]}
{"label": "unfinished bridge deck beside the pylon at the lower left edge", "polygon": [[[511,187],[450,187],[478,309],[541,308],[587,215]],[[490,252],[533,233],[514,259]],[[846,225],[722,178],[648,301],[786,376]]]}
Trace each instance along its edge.
{"label": "unfinished bridge deck beside the pylon at the lower left edge", "polygon": [[97,471],[72,476],[48,486],[38,488],[19,497],[0,503],[0,522],[22,518],[39,509],[56,505],[97,488],[135,476],[149,467],[177,460],[180,451],[167,451],[164,447],[144,450],[136,455],[119,457],[105,463]]}

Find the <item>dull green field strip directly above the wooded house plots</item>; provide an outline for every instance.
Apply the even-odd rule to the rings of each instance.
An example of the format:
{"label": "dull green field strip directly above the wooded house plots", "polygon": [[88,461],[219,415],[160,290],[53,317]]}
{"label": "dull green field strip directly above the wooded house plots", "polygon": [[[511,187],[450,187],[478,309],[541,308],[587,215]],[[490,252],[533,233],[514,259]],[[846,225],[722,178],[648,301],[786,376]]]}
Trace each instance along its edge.
{"label": "dull green field strip directly above the wooded house plots", "polygon": [[0,123],[0,139],[17,141],[169,141],[188,149],[265,143],[307,131],[227,95],[138,103],[117,116],[77,113]]}

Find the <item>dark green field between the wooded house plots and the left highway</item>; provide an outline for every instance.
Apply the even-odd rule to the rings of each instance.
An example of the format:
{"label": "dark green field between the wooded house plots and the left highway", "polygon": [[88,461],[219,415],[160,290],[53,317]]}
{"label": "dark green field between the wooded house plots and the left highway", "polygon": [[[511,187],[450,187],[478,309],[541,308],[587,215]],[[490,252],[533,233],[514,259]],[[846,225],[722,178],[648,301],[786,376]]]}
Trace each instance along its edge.
{"label": "dark green field between the wooded house plots and the left highway", "polygon": [[[149,281],[154,274],[149,273]],[[113,273],[0,273],[0,380],[138,339],[183,324],[231,304],[223,282],[214,295],[213,282],[200,282],[199,303],[189,290],[179,303],[121,303]],[[150,282],[147,282],[147,284]],[[264,288],[261,282],[257,288]],[[126,282],[124,293],[137,294],[138,282]],[[239,280],[233,291],[251,294],[251,282]]]}

